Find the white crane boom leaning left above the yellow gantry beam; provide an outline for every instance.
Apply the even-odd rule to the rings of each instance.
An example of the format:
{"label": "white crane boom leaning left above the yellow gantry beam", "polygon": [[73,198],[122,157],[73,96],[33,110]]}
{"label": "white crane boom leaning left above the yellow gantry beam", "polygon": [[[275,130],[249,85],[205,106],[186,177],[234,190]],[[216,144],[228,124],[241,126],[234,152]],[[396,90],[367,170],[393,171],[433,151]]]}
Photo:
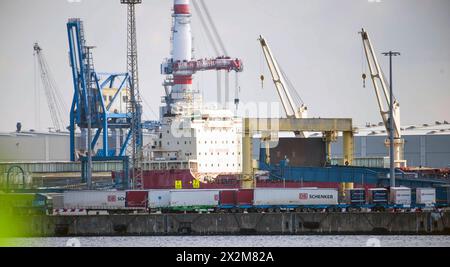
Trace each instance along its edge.
{"label": "white crane boom leaning left above the yellow gantry beam", "polygon": [[283,76],[278,62],[273,57],[272,51],[267,44],[267,41],[261,35],[259,36],[258,41],[261,44],[267,66],[269,67],[273,82],[277,89],[278,96],[281,100],[281,104],[283,105],[283,109],[286,112],[286,116],[288,118],[306,118],[306,106],[302,104],[300,107],[298,107],[298,105],[295,103],[294,98],[289,92],[285,77]]}

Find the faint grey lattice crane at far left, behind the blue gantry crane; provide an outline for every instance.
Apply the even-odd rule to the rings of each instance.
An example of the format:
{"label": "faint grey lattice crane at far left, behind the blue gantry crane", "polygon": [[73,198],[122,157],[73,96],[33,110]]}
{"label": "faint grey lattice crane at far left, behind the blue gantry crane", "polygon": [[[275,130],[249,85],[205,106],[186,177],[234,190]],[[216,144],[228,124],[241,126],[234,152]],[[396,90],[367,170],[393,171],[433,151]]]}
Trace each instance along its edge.
{"label": "faint grey lattice crane at far left, behind the blue gantry crane", "polygon": [[53,127],[58,132],[63,131],[66,126],[65,124],[67,123],[63,114],[65,114],[68,109],[64,105],[64,100],[61,93],[59,92],[58,87],[56,86],[56,83],[51,75],[50,68],[48,67],[47,61],[42,53],[42,48],[38,43],[35,43],[33,49],[34,55],[39,64],[40,76],[45,96],[47,98],[47,105]]}

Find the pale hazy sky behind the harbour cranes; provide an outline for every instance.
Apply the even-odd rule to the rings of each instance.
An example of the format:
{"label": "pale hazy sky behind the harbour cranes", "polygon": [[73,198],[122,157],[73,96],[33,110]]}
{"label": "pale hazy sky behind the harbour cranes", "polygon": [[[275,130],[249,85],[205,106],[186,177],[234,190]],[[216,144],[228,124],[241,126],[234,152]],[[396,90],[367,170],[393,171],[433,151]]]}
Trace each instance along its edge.
{"label": "pale hazy sky behind the harbour cranes", "polygon": [[[160,63],[169,56],[171,0],[143,0],[137,7],[144,119],[157,118],[164,90]],[[310,117],[351,117],[355,125],[381,121],[369,80],[362,88],[362,43],[370,34],[385,73],[394,61],[394,90],[402,124],[450,121],[450,1],[448,0],[205,0],[229,54],[244,61],[241,102],[278,99],[257,37],[262,34],[308,106]],[[66,106],[73,88],[66,22],[80,17],[99,72],[126,68],[126,8],[119,0],[0,0],[0,131],[51,125],[45,95],[35,97],[33,43],[44,50]],[[213,56],[193,14],[197,57]],[[259,75],[266,76],[261,88]],[[196,76],[207,101],[215,99],[215,74]],[[39,76],[37,84],[41,88]],[[233,84],[233,83],[231,83]],[[39,101],[37,99],[40,99]],[[39,109],[36,107],[38,106]],[[67,111],[68,113],[68,111]],[[66,116],[67,117],[67,116]]]}

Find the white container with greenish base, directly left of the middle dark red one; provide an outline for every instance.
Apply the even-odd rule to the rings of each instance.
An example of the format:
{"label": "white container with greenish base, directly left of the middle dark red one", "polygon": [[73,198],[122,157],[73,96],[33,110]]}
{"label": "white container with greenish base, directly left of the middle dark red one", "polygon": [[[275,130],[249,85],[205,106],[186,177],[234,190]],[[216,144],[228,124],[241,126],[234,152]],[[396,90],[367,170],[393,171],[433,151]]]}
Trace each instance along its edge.
{"label": "white container with greenish base, directly left of the middle dark red one", "polygon": [[218,206],[219,190],[170,190],[171,207]]}

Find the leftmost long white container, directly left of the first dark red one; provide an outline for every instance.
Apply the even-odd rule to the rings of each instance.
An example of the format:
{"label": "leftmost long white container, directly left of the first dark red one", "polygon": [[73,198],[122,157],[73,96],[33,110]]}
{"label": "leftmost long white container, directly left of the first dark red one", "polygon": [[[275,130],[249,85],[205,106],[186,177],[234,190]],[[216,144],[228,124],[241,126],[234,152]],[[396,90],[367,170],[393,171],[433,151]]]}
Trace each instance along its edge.
{"label": "leftmost long white container, directly left of the first dark red one", "polygon": [[66,209],[125,209],[125,191],[66,191]]}

